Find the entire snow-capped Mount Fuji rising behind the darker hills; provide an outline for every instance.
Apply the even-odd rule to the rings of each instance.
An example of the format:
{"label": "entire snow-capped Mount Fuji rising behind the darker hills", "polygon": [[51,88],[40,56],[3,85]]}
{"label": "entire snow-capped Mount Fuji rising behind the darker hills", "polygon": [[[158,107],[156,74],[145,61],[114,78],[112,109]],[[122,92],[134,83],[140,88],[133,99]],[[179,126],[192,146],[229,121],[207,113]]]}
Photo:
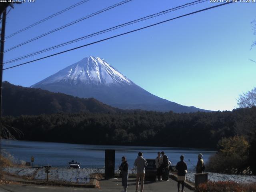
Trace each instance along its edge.
{"label": "entire snow-capped Mount Fuji rising behind the darker hills", "polygon": [[122,109],[142,109],[161,112],[206,111],[162,99],[136,85],[104,59],[90,56],[34,84],[51,92],[61,92],[80,98],[96,98]]}

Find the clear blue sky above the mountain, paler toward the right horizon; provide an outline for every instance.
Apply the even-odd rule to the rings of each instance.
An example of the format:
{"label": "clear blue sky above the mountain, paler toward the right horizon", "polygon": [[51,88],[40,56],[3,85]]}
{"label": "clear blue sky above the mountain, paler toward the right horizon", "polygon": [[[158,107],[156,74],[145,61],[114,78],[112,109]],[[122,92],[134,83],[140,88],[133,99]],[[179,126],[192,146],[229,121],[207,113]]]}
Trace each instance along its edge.
{"label": "clear blue sky above the mountain, paler toward the right horizon", "polygon": [[[111,6],[121,0],[90,0],[6,40],[5,48]],[[194,0],[132,0],[78,24],[6,52],[5,60],[48,48],[93,32]],[[36,0],[15,5],[7,16],[6,36],[80,0]],[[32,58],[73,48],[114,34],[214,6],[204,2],[126,26]],[[145,90],[167,100],[207,110],[232,110],[242,92],[256,86],[256,3],[232,3],[4,71],[4,80],[31,86],[84,57],[103,58]],[[12,66],[6,64],[5,67]]]}

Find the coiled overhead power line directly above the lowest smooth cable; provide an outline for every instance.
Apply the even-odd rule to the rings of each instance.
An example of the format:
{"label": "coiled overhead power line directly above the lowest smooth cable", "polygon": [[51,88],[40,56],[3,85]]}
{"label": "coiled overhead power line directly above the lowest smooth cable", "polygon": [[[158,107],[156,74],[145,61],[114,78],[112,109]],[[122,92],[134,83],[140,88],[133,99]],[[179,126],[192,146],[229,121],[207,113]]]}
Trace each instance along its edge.
{"label": "coiled overhead power line directly above the lowest smooth cable", "polygon": [[90,37],[93,37],[93,36],[96,36],[96,35],[100,35],[100,34],[103,34],[103,33],[106,33],[106,32],[110,32],[112,30],[116,30],[118,28],[121,28],[121,27],[124,27],[124,26],[127,26],[127,25],[131,25],[131,24],[134,24],[134,23],[137,23],[137,22],[141,22],[141,21],[144,21],[144,20],[147,20],[147,19],[151,19],[151,18],[154,18],[156,16],[160,16],[162,14],[166,14],[168,12],[172,12],[172,11],[175,11],[175,10],[178,10],[178,9],[181,9],[181,8],[185,8],[185,7],[192,6],[192,5],[195,5],[195,4],[198,4],[198,3],[202,3],[202,2],[206,2],[206,1],[208,1],[208,0],[196,0],[194,2],[187,3],[187,4],[184,4],[184,5],[175,7],[175,8],[170,8],[168,10],[164,10],[162,12],[158,12],[158,13],[155,13],[155,14],[143,17],[143,18],[132,20],[130,22],[126,22],[124,24],[120,24],[118,26],[114,26],[112,28],[108,28],[108,29],[102,30],[100,32],[96,32],[96,33],[93,33],[93,34],[90,34],[90,35],[87,35],[87,36],[83,36],[83,37],[80,37],[80,38],[77,38],[77,39],[74,39],[74,40],[71,40],[71,41],[68,41],[68,42],[64,42],[62,44],[58,44],[58,45],[52,46],[50,48],[46,48],[46,49],[43,49],[43,50],[40,50],[40,51],[37,51],[37,52],[33,52],[33,53],[30,53],[30,54],[26,54],[24,56],[20,56],[18,58],[14,58],[14,59],[8,60],[4,64],[9,64],[9,63],[12,63],[12,62],[16,62],[18,60],[22,60],[22,59],[25,59],[25,58],[28,58],[28,57],[31,57],[31,56],[35,56],[35,55],[41,54],[43,52],[47,52],[47,51],[50,51],[50,50],[53,50],[53,49],[56,49],[56,48],[59,48],[59,47],[62,47],[62,46],[66,46],[68,44],[72,44],[72,43],[75,43],[75,42],[78,42],[78,41],[81,41],[81,40],[84,40],[84,39],[87,39],[87,38],[90,38]]}

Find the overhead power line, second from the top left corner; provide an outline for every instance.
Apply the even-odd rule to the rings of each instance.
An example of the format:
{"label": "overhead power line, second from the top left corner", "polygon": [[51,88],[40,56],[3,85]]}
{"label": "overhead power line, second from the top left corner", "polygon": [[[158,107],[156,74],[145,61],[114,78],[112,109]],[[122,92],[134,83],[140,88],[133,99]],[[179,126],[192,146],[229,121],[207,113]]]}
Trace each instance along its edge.
{"label": "overhead power line, second from the top left corner", "polygon": [[102,13],[102,12],[105,12],[105,11],[107,11],[107,10],[110,10],[110,9],[112,9],[112,8],[115,8],[115,7],[117,7],[117,6],[120,6],[120,5],[125,4],[125,3],[127,3],[127,2],[130,2],[130,1],[132,1],[132,0],[124,0],[124,1],[122,1],[122,2],[119,2],[119,3],[117,3],[117,4],[114,4],[114,5],[112,5],[112,6],[109,6],[109,7],[107,7],[107,8],[104,8],[104,9],[102,9],[102,10],[100,10],[100,11],[97,11],[97,12],[95,12],[95,13],[92,13],[92,14],[90,14],[90,15],[87,15],[87,16],[85,16],[85,17],[82,17],[82,18],[80,18],[80,19],[78,19],[78,20],[72,21],[72,22],[70,22],[70,23],[68,23],[68,24],[66,24],[66,25],[63,25],[63,26],[61,26],[61,27],[58,27],[58,28],[56,28],[56,29],[54,29],[54,30],[51,30],[51,31],[49,31],[49,32],[46,32],[46,33],[40,35],[40,36],[37,36],[37,37],[32,38],[32,39],[30,39],[30,40],[27,40],[27,41],[25,41],[25,42],[23,42],[23,43],[21,43],[21,44],[18,44],[18,45],[16,45],[16,46],[12,47],[12,48],[9,48],[9,49],[7,49],[5,52],[8,52],[8,51],[10,51],[10,50],[13,50],[13,49],[15,49],[15,48],[17,48],[17,47],[20,47],[20,46],[24,45],[24,44],[27,44],[27,43],[29,43],[29,42],[32,42],[32,41],[37,40],[37,39],[39,39],[39,38],[42,38],[42,37],[44,37],[44,36],[46,36],[46,35],[48,35],[48,34],[51,34],[51,33],[53,33],[53,32],[56,32],[56,31],[61,30],[61,29],[63,29],[63,28],[66,28],[66,27],[71,26],[71,25],[73,25],[73,24],[76,24],[76,23],[78,23],[78,22],[80,22],[80,21],[82,21],[82,20],[88,19],[88,18],[90,18],[90,17],[92,17],[92,16],[94,16],[94,15],[100,14],[100,13]]}

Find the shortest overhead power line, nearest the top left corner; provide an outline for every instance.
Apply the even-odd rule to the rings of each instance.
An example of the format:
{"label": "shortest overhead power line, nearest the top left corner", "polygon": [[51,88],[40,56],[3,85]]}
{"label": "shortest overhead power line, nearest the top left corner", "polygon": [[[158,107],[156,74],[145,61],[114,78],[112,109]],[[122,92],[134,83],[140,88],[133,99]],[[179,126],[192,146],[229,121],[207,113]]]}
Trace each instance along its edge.
{"label": "shortest overhead power line, nearest the top left corner", "polygon": [[46,17],[46,18],[44,18],[44,19],[42,19],[42,20],[40,20],[40,21],[38,21],[38,22],[35,22],[35,23],[33,23],[33,24],[31,24],[31,25],[29,25],[29,26],[27,26],[27,27],[25,27],[25,28],[23,28],[23,29],[21,29],[21,30],[18,30],[17,32],[15,32],[15,33],[13,33],[13,34],[10,34],[10,35],[7,36],[5,39],[8,39],[8,38],[10,38],[10,37],[12,37],[12,36],[14,36],[14,35],[16,35],[16,34],[19,34],[19,33],[23,32],[23,31],[26,31],[26,30],[28,30],[29,28],[32,28],[32,27],[34,27],[34,26],[36,26],[36,25],[38,25],[38,24],[40,24],[40,23],[42,23],[42,22],[45,22],[45,21],[47,21],[47,20],[49,20],[49,19],[51,19],[51,18],[53,18],[53,17],[55,17],[55,16],[57,16],[57,15],[59,15],[59,14],[62,14],[62,13],[64,13],[64,12],[66,12],[66,11],[72,9],[72,8],[75,8],[75,7],[81,5],[81,4],[85,3],[85,2],[88,2],[88,1],[89,1],[89,0],[82,0],[82,1],[80,1],[80,2],[78,2],[78,3],[76,3],[76,4],[72,5],[72,6],[70,6],[70,7],[68,7],[68,8],[65,8],[64,10],[61,10],[61,11],[59,11],[59,12],[57,12],[57,13],[55,13],[55,14],[52,14],[51,16],[48,16],[48,17]]}

